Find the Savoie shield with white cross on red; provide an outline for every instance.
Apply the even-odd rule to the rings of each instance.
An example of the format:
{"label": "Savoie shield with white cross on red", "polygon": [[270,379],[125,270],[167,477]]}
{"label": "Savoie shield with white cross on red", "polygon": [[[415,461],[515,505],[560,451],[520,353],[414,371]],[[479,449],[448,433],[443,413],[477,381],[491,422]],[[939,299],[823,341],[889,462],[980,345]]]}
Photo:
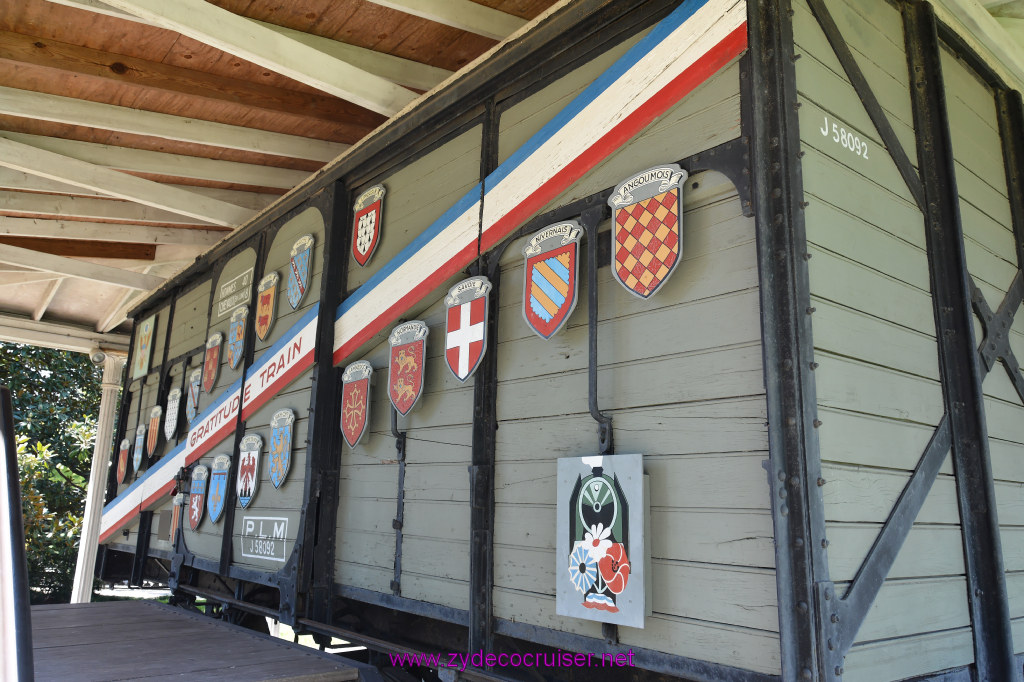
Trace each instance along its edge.
{"label": "Savoie shield with white cross on red", "polygon": [[490,282],[476,276],[463,280],[444,297],[447,325],[444,330],[444,360],[459,381],[476,370],[487,348],[487,293]]}

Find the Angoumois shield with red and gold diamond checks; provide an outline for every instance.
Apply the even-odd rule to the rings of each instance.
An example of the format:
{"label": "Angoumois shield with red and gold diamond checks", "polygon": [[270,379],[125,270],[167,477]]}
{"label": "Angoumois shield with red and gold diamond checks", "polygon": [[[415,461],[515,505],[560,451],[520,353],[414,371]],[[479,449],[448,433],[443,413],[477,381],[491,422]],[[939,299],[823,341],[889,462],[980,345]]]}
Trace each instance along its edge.
{"label": "Angoumois shield with red and gold diamond checks", "polygon": [[622,182],[608,198],[611,272],[635,296],[650,298],[683,257],[683,182],[676,164],[655,166]]}

